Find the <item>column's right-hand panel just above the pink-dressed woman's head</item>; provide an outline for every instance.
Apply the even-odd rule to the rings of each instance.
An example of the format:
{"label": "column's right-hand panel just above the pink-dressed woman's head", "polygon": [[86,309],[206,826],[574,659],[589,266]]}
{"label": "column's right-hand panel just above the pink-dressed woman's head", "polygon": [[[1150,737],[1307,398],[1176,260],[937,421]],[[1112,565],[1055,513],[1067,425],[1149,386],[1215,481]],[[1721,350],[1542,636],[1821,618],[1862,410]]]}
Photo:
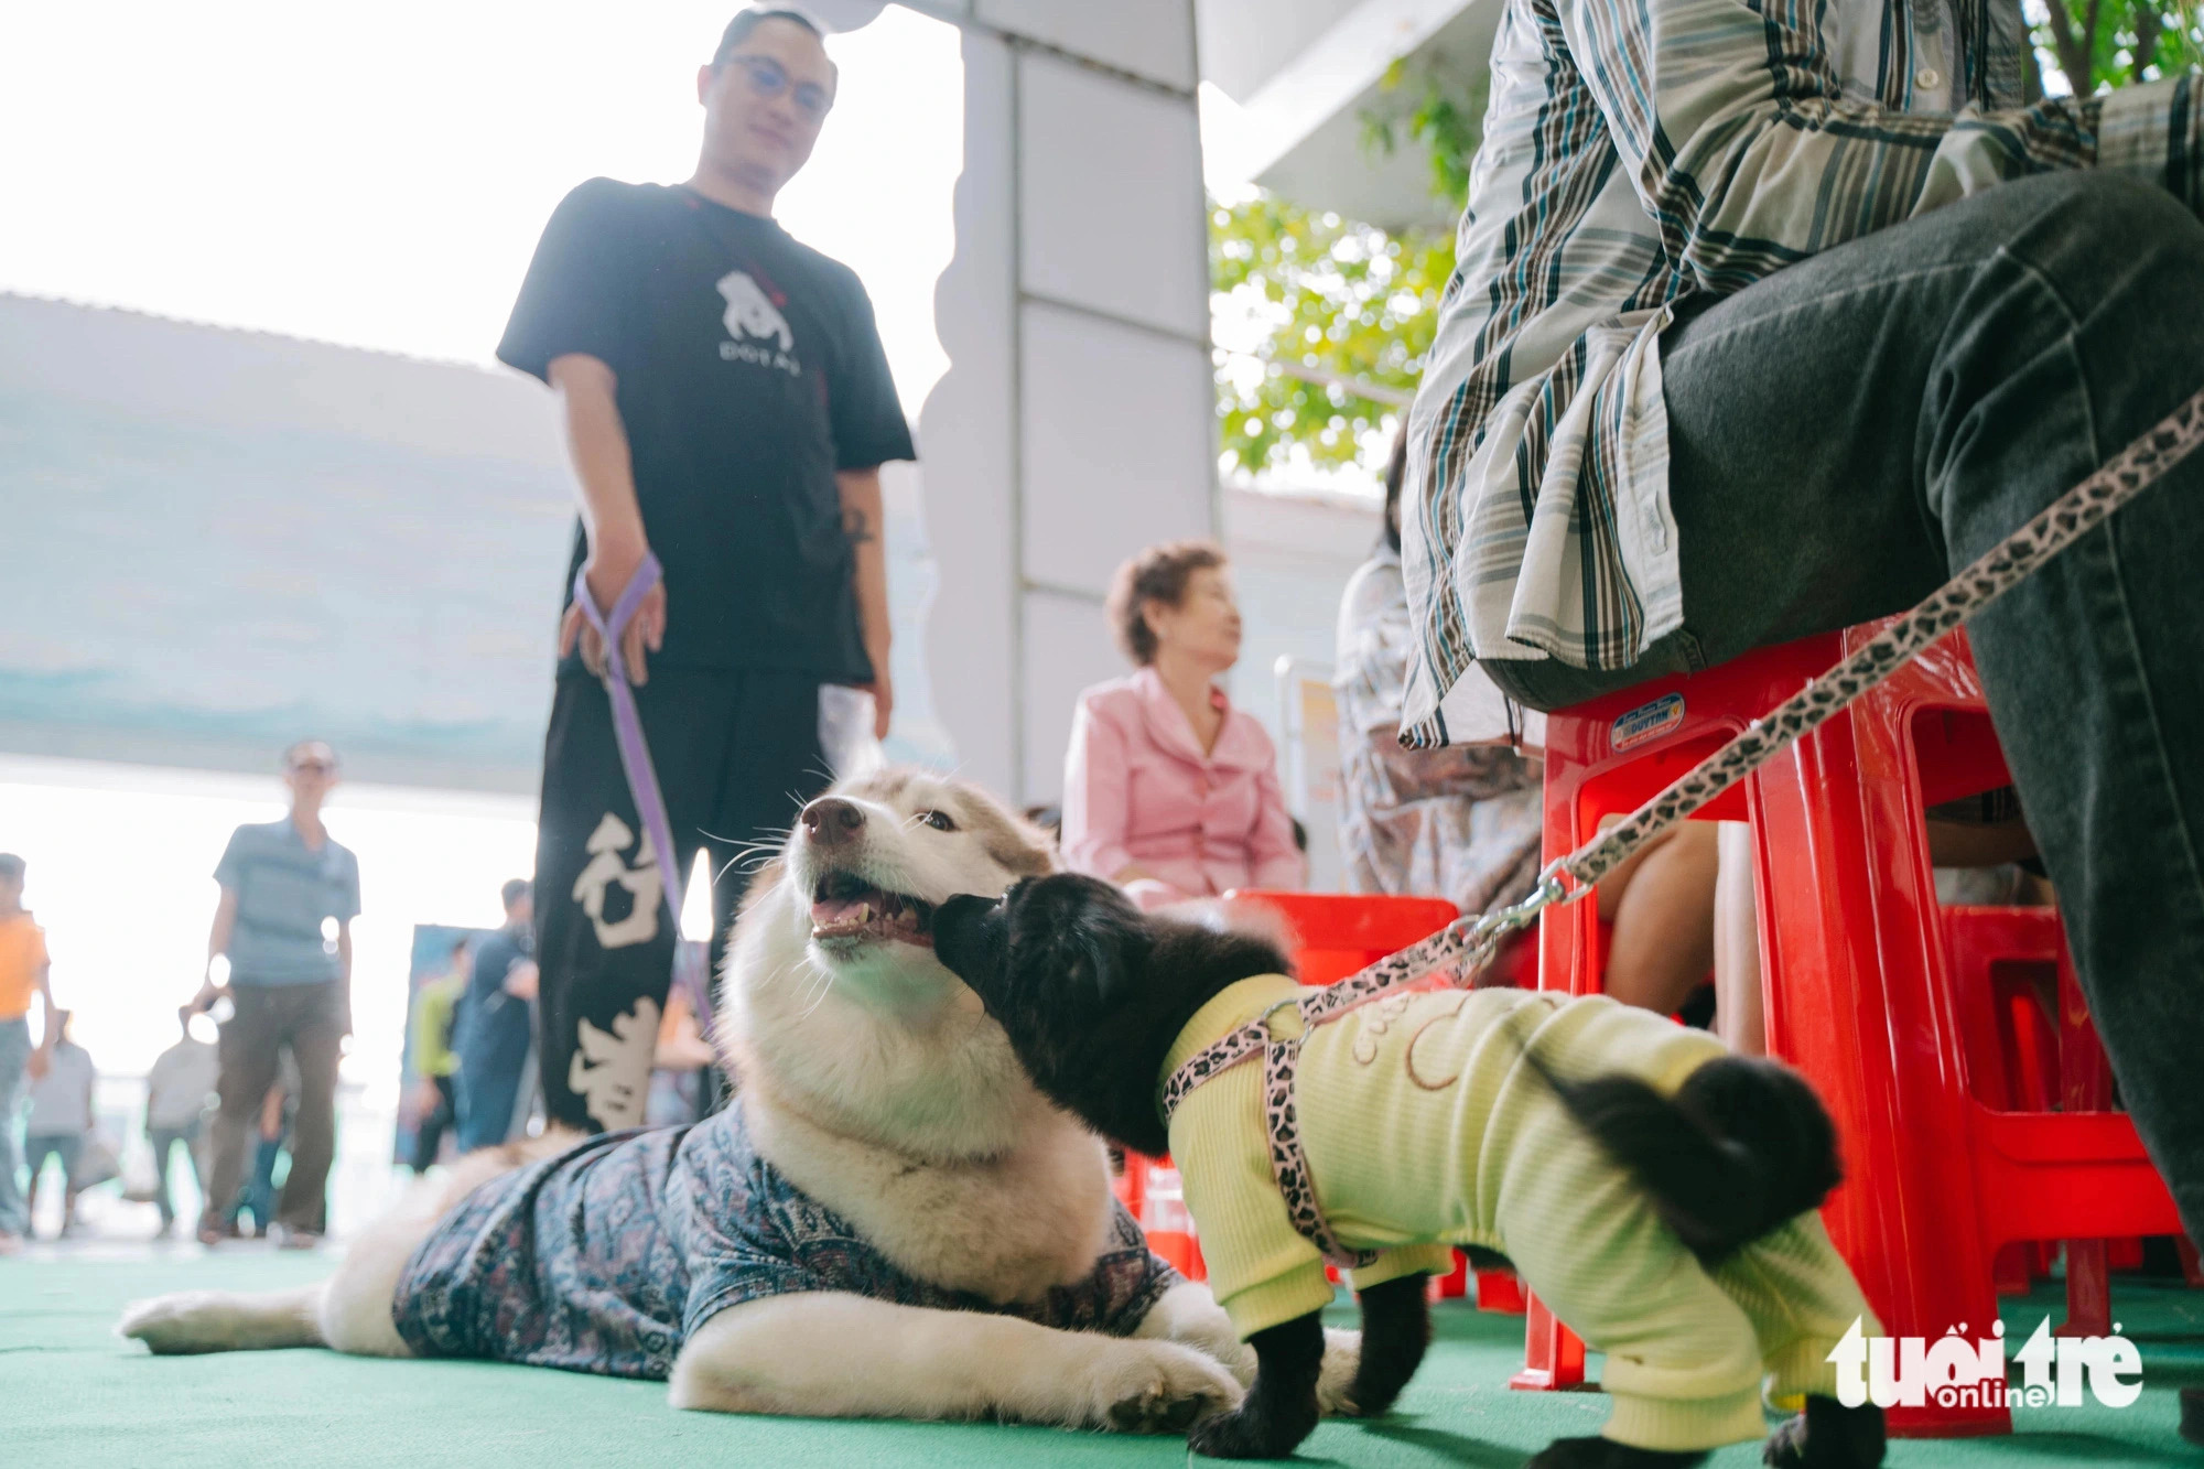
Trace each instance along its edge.
{"label": "column's right-hand panel just above the pink-dressed woman's head", "polygon": [[1208,355],[1025,304],[1025,576],[1102,593],[1126,556],[1208,536],[1217,457]]}

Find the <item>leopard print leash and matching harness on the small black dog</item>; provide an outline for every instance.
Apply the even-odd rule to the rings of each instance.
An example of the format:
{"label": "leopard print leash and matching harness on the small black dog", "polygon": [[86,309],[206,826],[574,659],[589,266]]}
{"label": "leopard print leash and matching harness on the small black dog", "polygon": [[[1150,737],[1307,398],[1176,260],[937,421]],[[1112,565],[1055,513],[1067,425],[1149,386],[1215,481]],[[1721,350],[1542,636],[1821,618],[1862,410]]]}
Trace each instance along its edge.
{"label": "leopard print leash and matching harness on the small black dog", "polygon": [[[1428,940],[1411,944],[1338,984],[1309,988],[1300,999],[1272,1006],[1188,1059],[1164,1083],[1164,1123],[1170,1123],[1170,1114],[1197,1085],[1261,1052],[1270,1169],[1294,1229],[1340,1268],[1369,1264],[1375,1259],[1371,1251],[1342,1248],[1331,1226],[1325,1224],[1309,1180],[1309,1158],[1300,1147],[1294,1074],[1300,1063],[1300,1043],[1309,1030],[1415,979],[1446,975],[1455,984],[1468,984],[1492,964],[1503,937],[1538,922],[1545,909],[1576,902],[1589,893],[1602,876],[1642,851],[1655,836],[1686,821],[1774,759],[1794,739],[1898,673],[1915,653],[2034,576],[2043,562],[2096,529],[2114,510],[2151,487],[2197,446],[2204,446],[2204,390],[2120,450],[2089,479],[2059,496],[2050,510],[1929,593],[1924,602],[1882,629],[1858,653],[1816,677],[1774,712],[1754,719],[1750,728],[1686,770],[1631,816],[1569,856],[1547,862],[1545,871],[1538,873],[1538,887],[1523,902],[1479,918],[1459,918]],[[1287,1006],[1300,1010],[1300,1034],[1274,1034],[1270,1028],[1270,1017]]]}

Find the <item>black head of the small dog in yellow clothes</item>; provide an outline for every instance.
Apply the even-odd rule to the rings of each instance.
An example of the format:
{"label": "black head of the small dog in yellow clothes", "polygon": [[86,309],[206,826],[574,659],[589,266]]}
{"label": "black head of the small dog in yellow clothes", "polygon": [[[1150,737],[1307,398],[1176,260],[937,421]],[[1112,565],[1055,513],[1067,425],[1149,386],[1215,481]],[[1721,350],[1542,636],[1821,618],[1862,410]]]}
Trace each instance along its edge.
{"label": "black head of the small dog in yellow clothes", "polygon": [[934,955],[1009,1032],[1034,1085],[1142,1154],[1168,1151],[1155,1087],[1186,1021],[1225,986],[1287,968],[1258,937],[1150,918],[1078,873],[950,898]]}

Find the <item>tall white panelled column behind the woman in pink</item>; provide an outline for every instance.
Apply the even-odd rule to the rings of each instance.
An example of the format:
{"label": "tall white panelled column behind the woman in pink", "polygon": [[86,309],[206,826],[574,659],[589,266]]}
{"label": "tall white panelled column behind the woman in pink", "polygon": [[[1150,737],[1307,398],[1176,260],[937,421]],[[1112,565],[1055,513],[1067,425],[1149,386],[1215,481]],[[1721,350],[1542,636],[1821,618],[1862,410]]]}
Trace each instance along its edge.
{"label": "tall white panelled column behind the woman in pink", "polygon": [[1080,688],[1124,671],[1120,560],[1217,529],[1190,0],[919,2],[963,26],[950,371],[919,415],[961,770],[1056,801]]}

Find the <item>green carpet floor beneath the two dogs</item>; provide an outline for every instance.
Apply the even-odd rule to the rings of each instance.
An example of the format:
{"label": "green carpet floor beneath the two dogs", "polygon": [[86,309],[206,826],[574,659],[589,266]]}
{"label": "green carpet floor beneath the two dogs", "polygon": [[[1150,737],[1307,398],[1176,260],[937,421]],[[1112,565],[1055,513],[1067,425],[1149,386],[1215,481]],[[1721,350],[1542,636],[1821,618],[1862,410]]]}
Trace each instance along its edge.
{"label": "green carpet floor beneath the two dogs", "polygon": [[[106,1257],[101,1257],[106,1255]],[[165,1257],[44,1253],[0,1259],[0,1465],[1186,1465],[1184,1440],[1029,1427],[820,1423],[677,1414],[657,1383],[489,1363],[355,1361],[331,1352],[152,1359],[112,1337],[123,1301],[179,1288],[276,1288],[326,1266],[271,1253]],[[2127,1409],[2028,1409],[2010,1438],[1904,1440],[1891,1465],[2204,1465],[2175,1436],[2175,1387],[2204,1383],[2204,1293],[2120,1282],[2142,1348]],[[2008,1332],[2056,1310],[2006,1306]],[[1351,1312],[1340,1312],[1347,1323]],[[1598,1394],[1508,1390],[1516,1317],[1448,1304],[1437,1343],[1384,1423],[1327,1423],[1307,1465],[1503,1469],[1558,1434],[1596,1432]],[[1208,1460],[1203,1460],[1208,1462]],[[1737,1445],[1719,1469],[1759,1462]]]}

